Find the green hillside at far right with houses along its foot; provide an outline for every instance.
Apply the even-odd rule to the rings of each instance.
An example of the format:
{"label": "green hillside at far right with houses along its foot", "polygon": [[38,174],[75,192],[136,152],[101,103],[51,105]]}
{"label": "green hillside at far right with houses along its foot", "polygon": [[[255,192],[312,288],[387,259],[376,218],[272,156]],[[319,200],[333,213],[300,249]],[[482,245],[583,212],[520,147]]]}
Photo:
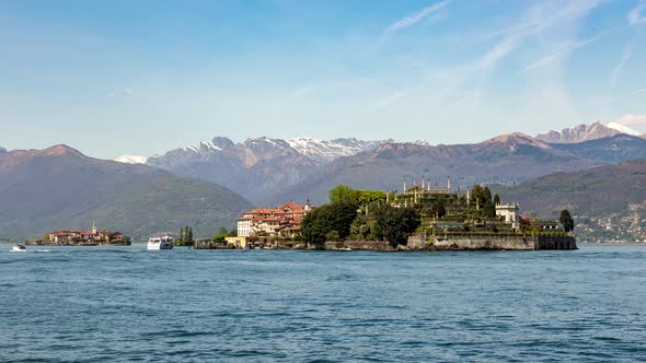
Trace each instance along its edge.
{"label": "green hillside at far right with houses along its foot", "polygon": [[573,173],[557,173],[515,186],[492,186],[523,213],[557,219],[568,209],[589,238],[646,238],[646,160]]}

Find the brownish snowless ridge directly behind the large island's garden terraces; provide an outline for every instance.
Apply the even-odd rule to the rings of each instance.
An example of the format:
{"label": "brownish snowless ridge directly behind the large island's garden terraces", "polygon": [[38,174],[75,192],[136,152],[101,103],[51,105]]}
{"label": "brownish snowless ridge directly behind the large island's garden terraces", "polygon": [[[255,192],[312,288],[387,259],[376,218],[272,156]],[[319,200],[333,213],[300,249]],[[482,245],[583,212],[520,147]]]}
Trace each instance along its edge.
{"label": "brownish snowless ridge directly behind the large island's garden terraces", "polygon": [[[646,140],[644,140],[646,141]],[[510,184],[555,172],[576,171],[602,165],[579,157],[552,144],[522,133],[511,133],[474,144],[418,145],[384,143],[372,151],[338,159],[323,165],[313,177],[288,188],[270,202],[291,197],[324,201],[327,190],[345,184],[353,188],[402,189],[425,177],[438,187],[478,184]]]}

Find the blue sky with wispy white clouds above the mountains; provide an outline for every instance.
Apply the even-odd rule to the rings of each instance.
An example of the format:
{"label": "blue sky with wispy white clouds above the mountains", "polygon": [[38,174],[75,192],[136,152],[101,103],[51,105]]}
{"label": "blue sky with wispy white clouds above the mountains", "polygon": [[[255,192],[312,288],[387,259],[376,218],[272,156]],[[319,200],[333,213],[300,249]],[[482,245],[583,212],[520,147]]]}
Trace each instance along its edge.
{"label": "blue sky with wispy white clouds above the mountains", "polygon": [[0,147],[646,132],[646,0],[0,1]]}

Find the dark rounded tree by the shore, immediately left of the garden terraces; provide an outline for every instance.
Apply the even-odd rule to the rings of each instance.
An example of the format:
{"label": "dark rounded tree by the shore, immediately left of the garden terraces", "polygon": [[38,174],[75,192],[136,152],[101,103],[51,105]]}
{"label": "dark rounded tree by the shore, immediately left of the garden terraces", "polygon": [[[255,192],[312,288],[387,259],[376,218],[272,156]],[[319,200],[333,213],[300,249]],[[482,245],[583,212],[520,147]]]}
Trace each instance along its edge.
{"label": "dark rounded tree by the shore, immediately left of the garden terraces", "polygon": [[419,212],[414,208],[383,206],[374,212],[374,216],[376,235],[385,238],[392,246],[405,244],[420,223]]}

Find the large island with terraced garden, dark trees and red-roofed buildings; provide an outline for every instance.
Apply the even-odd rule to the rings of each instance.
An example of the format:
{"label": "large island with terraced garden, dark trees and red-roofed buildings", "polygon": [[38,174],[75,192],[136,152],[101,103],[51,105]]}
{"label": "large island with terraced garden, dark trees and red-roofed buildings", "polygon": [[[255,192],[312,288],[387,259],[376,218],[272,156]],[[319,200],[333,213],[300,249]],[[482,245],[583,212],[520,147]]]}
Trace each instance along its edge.
{"label": "large island with terraced garden, dark trees and red-roofed buildings", "polygon": [[488,187],[438,188],[425,177],[402,191],[330,190],[330,203],[289,202],[238,220],[235,235],[196,248],[326,250],[538,250],[577,249],[567,210],[560,221],[520,215],[516,202]]}

